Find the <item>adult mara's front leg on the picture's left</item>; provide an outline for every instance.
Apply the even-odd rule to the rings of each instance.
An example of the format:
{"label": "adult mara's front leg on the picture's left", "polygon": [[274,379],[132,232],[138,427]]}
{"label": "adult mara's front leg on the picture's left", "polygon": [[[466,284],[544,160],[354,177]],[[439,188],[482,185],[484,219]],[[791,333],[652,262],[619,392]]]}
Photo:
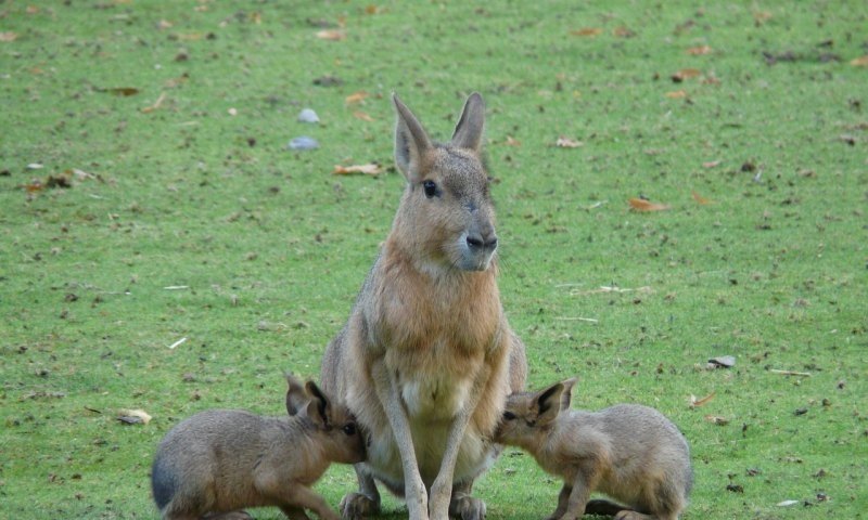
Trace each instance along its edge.
{"label": "adult mara's front leg on the picture's left", "polygon": [[[407,502],[407,511],[410,514],[410,520],[427,520],[427,492],[419,472],[419,463],[416,458],[410,424],[407,420],[407,411],[400,401],[397,381],[386,368],[383,359],[373,363],[371,376],[376,396],[385,410],[388,425],[395,435],[398,453],[400,453],[400,463],[404,470],[404,497]],[[448,507],[448,500],[446,505]],[[443,517],[444,520],[447,518]]]}

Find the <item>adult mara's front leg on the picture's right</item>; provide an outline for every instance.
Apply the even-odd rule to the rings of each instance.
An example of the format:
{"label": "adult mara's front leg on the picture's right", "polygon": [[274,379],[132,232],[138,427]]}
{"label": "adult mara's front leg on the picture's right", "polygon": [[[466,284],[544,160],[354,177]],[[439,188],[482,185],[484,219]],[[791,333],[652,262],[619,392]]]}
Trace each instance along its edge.
{"label": "adult mara's front leg on the picture's right", "polygon": [[[483,364],[480,373],[476,375],[476,379],[473,381],[470,399],[452,419],[452,424],[449,427],[449,437],[446,440],[446,450],[443,453],[441,468],[437,472],[437,478],[434,479],[434,484],[431,486],[429,511],[431,512],[432,520],[449,519],[449,503],[452,498],[452,477],[455,474],[455,465],[458,461],[458,452],[461,447],[461,441],[464,439],[468,424],[471,417],[473,417],[473,413],[476,411],[476,406],[478,406],[483,394],[492,390],[488,385],[492,367],[487,361],[488,360]],[[482,515],[484,516],[484,504],[481,508],[473,508],[472,511],[469,510],[469,518],[462,518],[462,520],[481,520],[477,515],[480,510],[482,510]],[[471,515],[475,515],[476,518],[473,518]]]}

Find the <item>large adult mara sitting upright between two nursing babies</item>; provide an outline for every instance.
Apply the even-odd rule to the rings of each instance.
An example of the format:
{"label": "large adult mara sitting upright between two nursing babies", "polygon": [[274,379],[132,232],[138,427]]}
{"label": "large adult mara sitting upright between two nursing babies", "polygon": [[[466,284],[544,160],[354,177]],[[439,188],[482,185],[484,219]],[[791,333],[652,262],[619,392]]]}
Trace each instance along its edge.
{"label": "large adult mara sitting upright between two nursing babies", "polygon": [[407,187],[392,232],[322,384],[370,432],[359,493],[344,518],[380,507],[374,479],[405,496],[411,520],[478,520],[473,480],[499,453],[506,396],[524,387],[524,346],[497,288],[494,207],[481,159],[485,108],[472,94],[447,144],[431,141],[397,99],[395,160]]}

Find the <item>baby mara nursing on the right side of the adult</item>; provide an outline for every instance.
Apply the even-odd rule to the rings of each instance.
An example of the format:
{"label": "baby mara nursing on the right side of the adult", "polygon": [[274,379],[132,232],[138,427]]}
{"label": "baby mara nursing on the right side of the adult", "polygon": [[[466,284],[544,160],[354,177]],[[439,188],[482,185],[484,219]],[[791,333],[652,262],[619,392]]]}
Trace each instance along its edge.
{"label": "baby mara nursing on the right side of the adult", "polygon": [[[675,520],[687,506],[693,481],[690,450],[660,412],[618,404],[600,412],[570,410],[575,379],[507,400],[495,441],[529,452],[564,481],[548,520],[584,514],[617,520]],[[589,500],[599,491],[625,506]]]}

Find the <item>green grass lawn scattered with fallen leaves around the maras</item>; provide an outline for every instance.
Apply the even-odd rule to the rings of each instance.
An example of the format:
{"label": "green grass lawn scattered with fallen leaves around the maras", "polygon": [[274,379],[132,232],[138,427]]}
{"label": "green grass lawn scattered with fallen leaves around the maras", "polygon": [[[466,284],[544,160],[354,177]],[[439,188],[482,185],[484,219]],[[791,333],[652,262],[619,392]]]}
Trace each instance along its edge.
{"label": "green grass lawn scattered with fallen leaves around the maras", "polygon": [[[686,519],[868,506],[864,2],[67,3],[0,3],[10,517],[155,519],[151,457],[178,419],[279,414],[281,372],[318,374],[403,188],[334,165],[392,165],[391,92],[447,138],[473,90],[528,386],[578,376],[574,406],[668,415],[695,466]],[[339,23],[346,39],[316,37]],[[301,134],[321,147],[286,151]],[[671,209],[630,211],[639,195]],[[702,369],[723,354],[736,366]],[[130,407],[153,420],[122,425]],[[318,489],[354,485],[333,467]],[[558,487],[508,451],[476,493],[528,519]]]}

